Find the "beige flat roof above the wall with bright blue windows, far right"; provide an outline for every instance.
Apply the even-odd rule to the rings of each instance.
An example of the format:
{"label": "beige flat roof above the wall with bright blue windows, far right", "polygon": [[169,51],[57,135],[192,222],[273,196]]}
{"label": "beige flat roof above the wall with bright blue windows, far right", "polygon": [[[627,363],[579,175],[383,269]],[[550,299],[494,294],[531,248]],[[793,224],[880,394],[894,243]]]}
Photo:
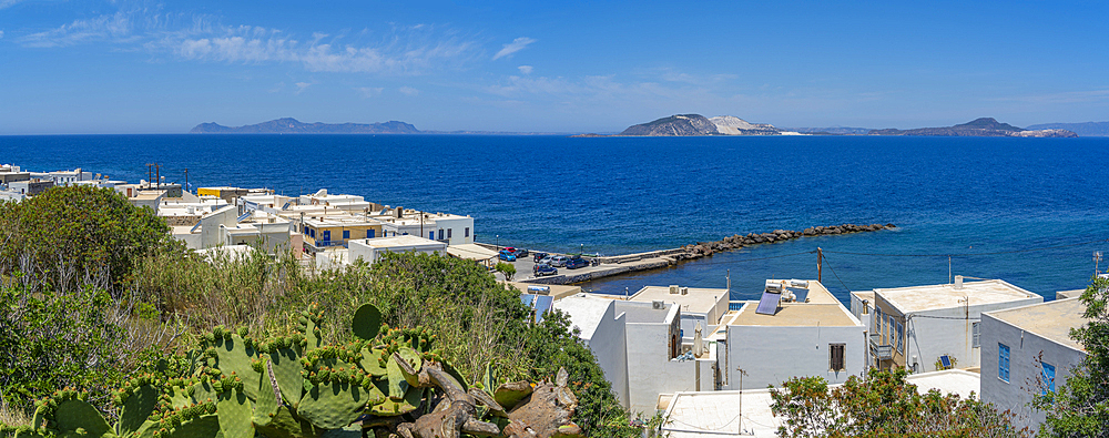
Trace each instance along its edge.
{"label": "beige flat roof above the wall with bright blue windows, far right", "polygon": [[1089,322],[1082,317],[1083,313],[1086,305],[1079,298],[1067,298],[986,314],[1045,339],[1083,350],[1081,345],[1070,338],[1071,328]]}

